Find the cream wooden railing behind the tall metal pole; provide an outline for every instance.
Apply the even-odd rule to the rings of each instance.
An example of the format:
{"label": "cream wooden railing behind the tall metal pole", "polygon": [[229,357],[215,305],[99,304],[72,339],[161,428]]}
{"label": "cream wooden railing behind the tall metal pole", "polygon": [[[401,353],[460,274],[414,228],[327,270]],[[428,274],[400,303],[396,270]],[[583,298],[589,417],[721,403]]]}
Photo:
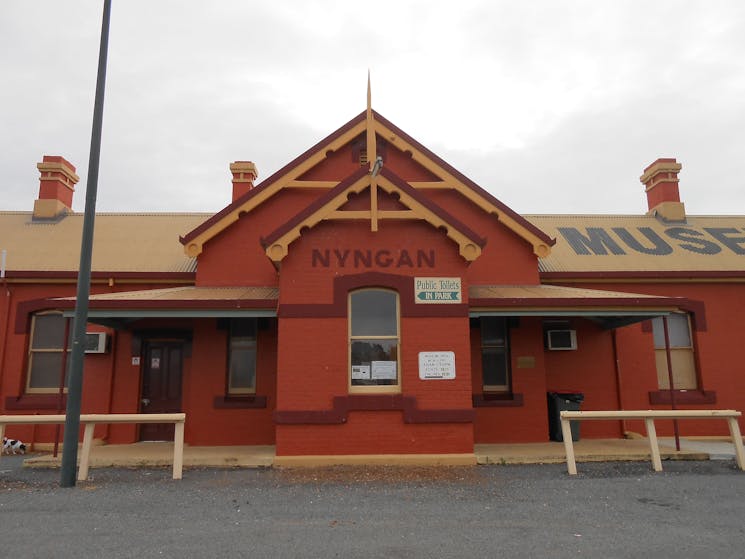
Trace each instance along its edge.
{"label": "cream wooden railing behind the tall metal pole", "polygon": [[[82,414],[80,423],[85,426],[83,447],[80,451],[78,481],[88,479],[93,429],[99,423],[173,423],[173,479],[181,479],[184,468],[184,422],[185,413],[93,413]],[[6,425],[64,424],[64,415],[0,415],[0,439]]]}

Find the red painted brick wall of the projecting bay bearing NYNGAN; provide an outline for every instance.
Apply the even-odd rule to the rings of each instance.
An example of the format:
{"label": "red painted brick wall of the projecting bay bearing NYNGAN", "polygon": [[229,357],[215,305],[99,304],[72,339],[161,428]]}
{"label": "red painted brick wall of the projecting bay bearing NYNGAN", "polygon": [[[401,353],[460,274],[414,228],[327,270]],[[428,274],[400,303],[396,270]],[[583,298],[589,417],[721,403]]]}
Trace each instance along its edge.
{"label": "red painted brick wall of the projecting bay bearing NYNGAN", "polygon": [[[413,253],[431,248],[436,251],[436,267],[380,266],[375,262],[370,267],[360,267],[339,258],[332,258],[328,266],[318,262],[315,267],[312,265],[314,250],[357,247],[388,250],[394,263],[399,251]],[[366,223],[337,223],[334,227],[323,224],[293,243],[282,262],[280,313],[284,304],[331,305],[334,278],[349,273],[462,277],[465,267],[457,246],[426,224],[383,223],[377,233],[371,233]],[[346,301],[346,293],[343,300]],[[279,348],[277,409],[330,410],[335,396],[348,394],[346,316],[280,318]],[[420,351],[454,351],[456,379],[420,380]],[[471,407],[466,316],[402,317],[400,363],[401,393],[416,397],[419,409]],[[341,425],[278,425],[276,440],[279,455],[462,453],[473,451],[473,427],[470,423],[406,424],[400,411],[352,411]]]}

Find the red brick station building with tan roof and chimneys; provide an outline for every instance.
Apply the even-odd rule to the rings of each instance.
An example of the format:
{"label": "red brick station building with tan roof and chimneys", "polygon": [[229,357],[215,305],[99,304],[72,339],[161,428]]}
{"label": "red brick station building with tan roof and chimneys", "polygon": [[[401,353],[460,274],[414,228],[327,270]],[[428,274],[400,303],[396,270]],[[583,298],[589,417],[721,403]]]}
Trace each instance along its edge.
{"label": "red brick station building with tan roof and chimneys", "polygon": [[[61,157],[38,167],[34,211],[0,213],[6,414],[65,404],[78,179]],[[275,445],[284,464],[472,463],[474,444],[548,440],[547,392],[743,407],[745,216],[687,215],[675,160],[644,171],[646,215],[521,216],[368,108],[260,184],[230,169],[215,215],[97,216],[83,412],[184,411],[187,443]]]}

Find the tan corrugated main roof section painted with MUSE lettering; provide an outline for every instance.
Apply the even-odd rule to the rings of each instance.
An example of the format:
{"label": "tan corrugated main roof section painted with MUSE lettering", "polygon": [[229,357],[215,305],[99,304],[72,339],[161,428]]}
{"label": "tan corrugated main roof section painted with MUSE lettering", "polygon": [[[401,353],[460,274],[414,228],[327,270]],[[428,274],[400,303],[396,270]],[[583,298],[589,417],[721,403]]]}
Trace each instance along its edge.
{"label": "tan corrugated main roof section painted with MUSE lettering", "polygon": [[556,238],[542,272],[745,271],[745,216],[533,215]]}

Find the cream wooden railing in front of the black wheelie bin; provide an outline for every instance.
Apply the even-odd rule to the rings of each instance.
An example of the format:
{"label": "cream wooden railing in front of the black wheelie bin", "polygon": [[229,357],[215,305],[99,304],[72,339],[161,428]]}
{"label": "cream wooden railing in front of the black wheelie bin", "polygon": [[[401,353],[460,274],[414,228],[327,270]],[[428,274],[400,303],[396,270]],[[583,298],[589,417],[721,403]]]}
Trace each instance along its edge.
{"label": "cream wooden railing in front of the black wheelie bin", "polygon": [[596,419],[643,419],[647,428],[647,438],[649,439],[649,450],[652,455],[652,464],[656,472],[662,471],[662,460],[660,459],[660,446],[657,441],[657,430],[654,426],[655,419],[724,419],[729,424],[732,443],[735,445],[735,459],[737,460],[737,465],[741,470],[745,470],[745,451],[743,451],[740,426],[737,424],[737,418],[741,415],[741,412],[735,410],[563,411],[561,412],[561,434],[564,438],[564,448],[566,449],[567,470],[571,475],[577,473],[570,421]]}

